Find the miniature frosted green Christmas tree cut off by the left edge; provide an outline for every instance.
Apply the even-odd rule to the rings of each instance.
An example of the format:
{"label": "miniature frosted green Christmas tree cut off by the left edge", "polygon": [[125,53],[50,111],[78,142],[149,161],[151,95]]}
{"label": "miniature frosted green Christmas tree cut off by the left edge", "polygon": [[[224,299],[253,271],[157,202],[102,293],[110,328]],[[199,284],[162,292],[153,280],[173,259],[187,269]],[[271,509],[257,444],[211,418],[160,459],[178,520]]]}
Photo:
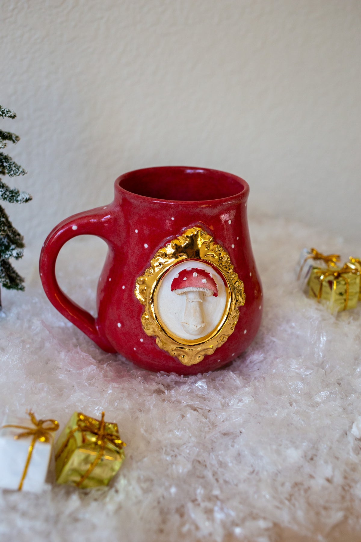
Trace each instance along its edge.
{"label": "miniature frosted green Christmas tree cut off by the left edge", "polygon": [[[16,115],[14,111],[0,106],[0,117],[15,119]],[[0,149],[5,149],[9,142],[17,143],[19,139],[18,135],[0,129]],[[0,175],[17,177],[18,175],[25,175],[25,173],[23,167],[14,162],[9,154],[0,152]],[[10,188],[0,178],[0,199],[9,203],[26,203],[30,201],[31,196],[28,192]],[[0,285],[4,288],[24,290],[24,279],[9,262],[10,258],[15,258],[15,260],[22,258],[24,247],[23,236],[11,224],[8,215],[0,205]]]}

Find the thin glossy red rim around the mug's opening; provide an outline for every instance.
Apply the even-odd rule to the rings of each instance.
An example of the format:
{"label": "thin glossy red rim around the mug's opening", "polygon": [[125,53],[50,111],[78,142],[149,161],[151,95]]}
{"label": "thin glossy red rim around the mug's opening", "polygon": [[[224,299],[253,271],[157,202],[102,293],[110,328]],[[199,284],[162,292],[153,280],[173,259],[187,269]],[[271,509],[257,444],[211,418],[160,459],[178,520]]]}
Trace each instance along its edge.
{"label": "thin glossy red rim around the mug's opening", "polygon": [[[141,172],[156,172],[161,170],[173,170],[173,171],[186,171],[191,170],[192,172],[202,172],[202,173],[218,173],[221,175],[225,175],[227,177],[231,177],[233,180],[237,181],[237,183],[240,184],[241,190],[231,196],[226,196],[222,198],[214,198],[214,199],[165,199],[165,198],[157,198],[154,196],[143,196],[142,194],[138,194],[136,192],[132,192],[130,190],[127,190],[126,188],[123,188],[121,186],[122,180],[126,179],[129,176],[133,176],[135,173],[141,173]],[[189,171],[190,172],[190,171]],[[202,204],[202,205],[210,205],[214,204],[215,202],[219,203],[227,203],[230,201],[245,201],[248,197],[248,193],[250,192],[250,186],[246,182],[246,180],[242,179],[242,177],[239,177],[238,175],[234,175],[233,173],[229,173],[227,171],[222,170],[216,170],[211,169],[209,167],[194,167],[194,166],[152,166],[152,167],[141,167],[140,169],[127,171],[126,173],[122,173],[119,177],[115,179],[114,188],[116,192],[119,193],[125,193],[132,195],[134,198],[139,199],[145,199],[152,202],[160,202],[160,203],[181,203],[182,205],[194,205],[194,204]]]}

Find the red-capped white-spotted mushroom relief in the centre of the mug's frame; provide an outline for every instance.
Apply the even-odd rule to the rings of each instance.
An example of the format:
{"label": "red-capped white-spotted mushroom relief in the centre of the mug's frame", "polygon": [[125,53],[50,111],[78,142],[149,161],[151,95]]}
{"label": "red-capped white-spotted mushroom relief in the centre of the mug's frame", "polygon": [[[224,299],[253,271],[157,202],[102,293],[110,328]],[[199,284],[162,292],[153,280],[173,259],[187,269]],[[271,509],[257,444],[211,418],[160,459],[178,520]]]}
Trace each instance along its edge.
{"label": "red-capped white-spotted mushroom relief in the centre of the mug's frame", "polygon": [[186,308],[181,322],[183,330],[190,335],[199,335],[206,325],[202,302],[211,295],[218,296],[212,274],[204,269],[187,267],[175,275],[170,289],[186,298]]}

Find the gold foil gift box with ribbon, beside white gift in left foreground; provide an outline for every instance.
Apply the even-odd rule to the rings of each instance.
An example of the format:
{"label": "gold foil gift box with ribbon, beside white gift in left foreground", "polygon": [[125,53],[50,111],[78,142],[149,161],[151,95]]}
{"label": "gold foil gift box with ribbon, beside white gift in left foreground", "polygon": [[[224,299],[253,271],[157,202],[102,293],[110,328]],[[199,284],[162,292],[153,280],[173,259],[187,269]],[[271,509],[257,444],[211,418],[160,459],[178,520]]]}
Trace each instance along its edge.
{"label": "gold foil gift box with ribbon, beside white gift in left foreground", "polygon": [[116,423],[74,412],[55,444],[58,483],[87,488],[107,486],[118,472],[126,444]]}

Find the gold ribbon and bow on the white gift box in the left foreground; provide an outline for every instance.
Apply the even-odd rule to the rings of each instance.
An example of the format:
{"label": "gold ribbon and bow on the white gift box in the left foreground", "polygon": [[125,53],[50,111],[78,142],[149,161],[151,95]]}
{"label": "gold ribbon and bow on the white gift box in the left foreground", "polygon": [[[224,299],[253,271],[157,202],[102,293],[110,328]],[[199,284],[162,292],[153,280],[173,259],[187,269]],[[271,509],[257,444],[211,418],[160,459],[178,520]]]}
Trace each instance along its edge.
{"label": "gold ribbon and bow on the white gift box in the left foreground", "polygon": [[32,456],[32,450],[34,450],[34,446],[36,441],[39,442],[50,442],[52,435],[50,434],[51,431],[57,431],[59,429],[59,423],[56,420],[37,420],[34,416],[34,413],[27,412],[27,414],[30,416],[31,423],[34,425],[34,428],[27,427],[26,425],[12,425],[12,424],[6,424],[2,425],[1,429],[5,427],[14,427],[16,429],[25,429],[23,433],[19,433],[18,435],[14,436],[14,440],[18,440],[19,438],[27,438],[32,436],[30,446],[28,448],[28,456],[27,461],[25,462],[25,467],[23,470],[23,475],[21,477],[19,487],[17,488],[18,491],[21,491],[23,487],[24,480],[28,473],[28,468]]}

